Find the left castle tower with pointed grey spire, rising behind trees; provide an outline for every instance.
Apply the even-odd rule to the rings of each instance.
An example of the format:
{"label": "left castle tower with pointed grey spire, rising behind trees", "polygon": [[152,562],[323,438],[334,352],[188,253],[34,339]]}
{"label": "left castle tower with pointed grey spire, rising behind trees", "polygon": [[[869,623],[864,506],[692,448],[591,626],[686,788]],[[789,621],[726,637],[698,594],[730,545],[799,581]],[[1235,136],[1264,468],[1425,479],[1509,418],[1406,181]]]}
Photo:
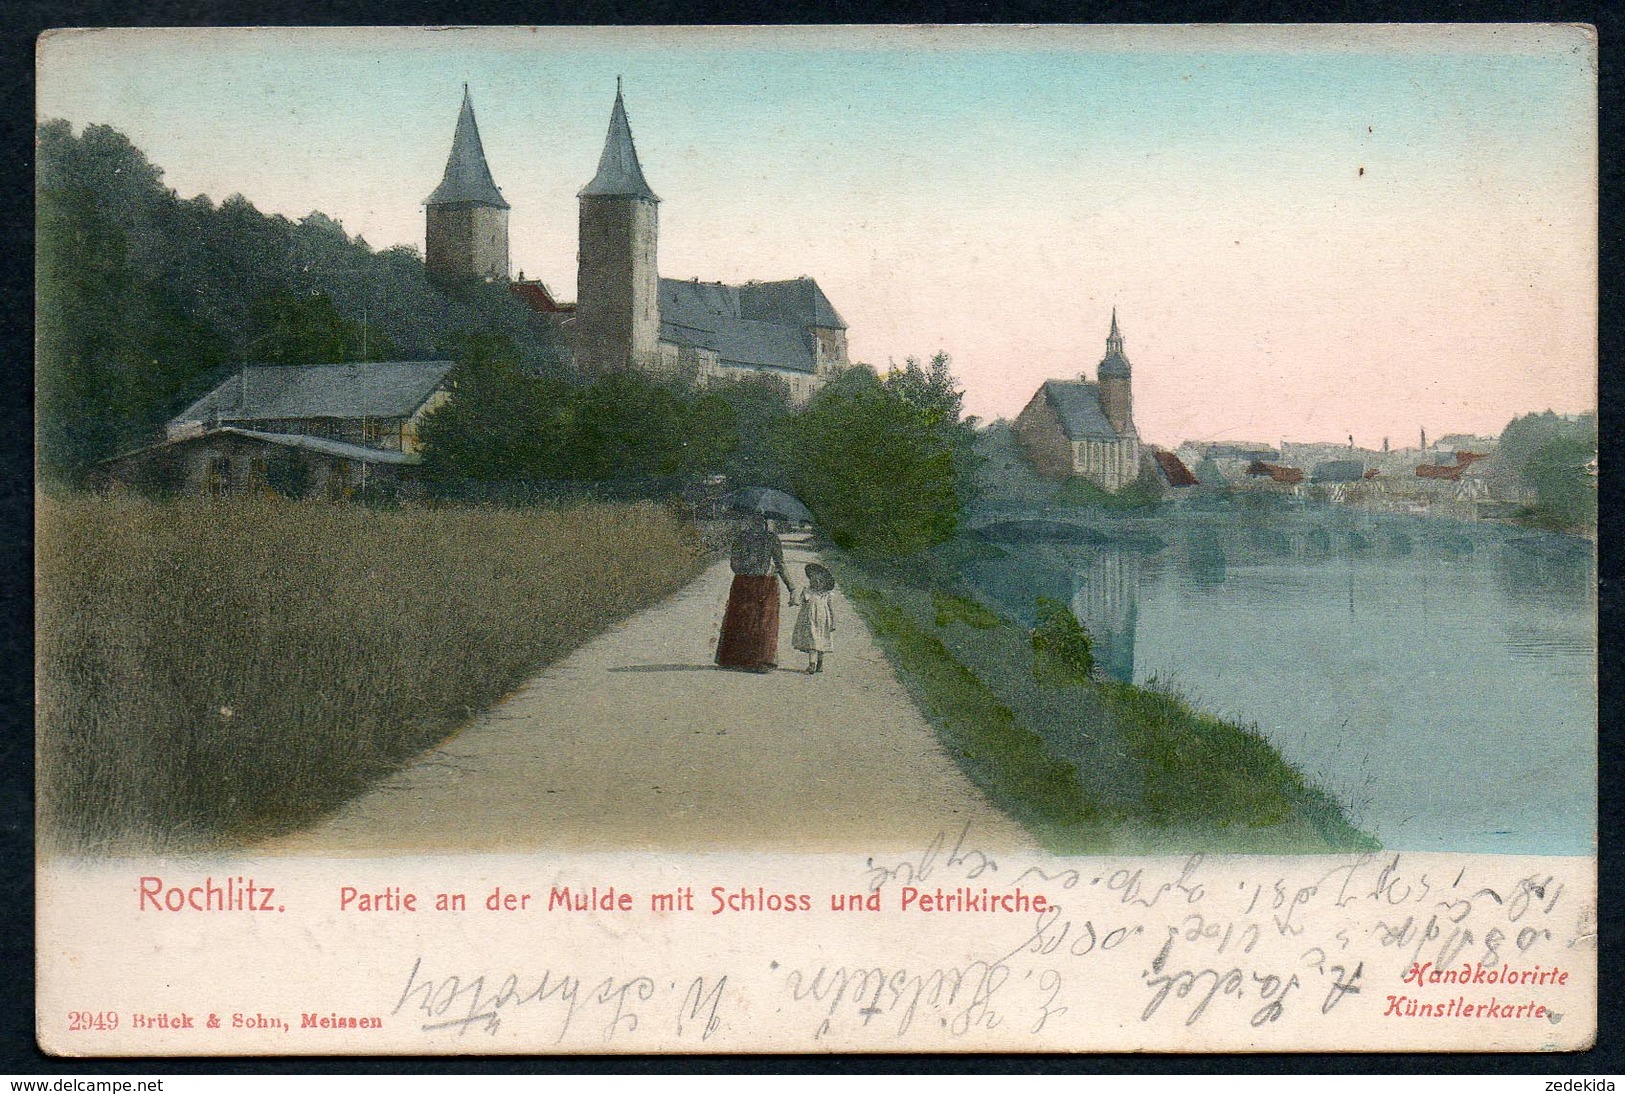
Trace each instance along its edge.
{"label": "left castle tower with pointed grey spire, rising behind trees", "polygon": [[507,281],[509,203],[491,179],[474,124],[474,102],[463,85],[445,177],[424,202],[424,265],[436,281]]}

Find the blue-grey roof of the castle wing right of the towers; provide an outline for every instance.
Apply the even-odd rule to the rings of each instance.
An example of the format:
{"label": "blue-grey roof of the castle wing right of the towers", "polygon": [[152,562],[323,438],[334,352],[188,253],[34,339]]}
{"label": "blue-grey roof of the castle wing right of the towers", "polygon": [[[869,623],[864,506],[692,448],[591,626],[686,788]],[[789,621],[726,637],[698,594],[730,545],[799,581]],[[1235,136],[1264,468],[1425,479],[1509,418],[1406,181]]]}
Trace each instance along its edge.
{"label": "blue-grey roof of the castle wing right of the towers", "polygon": [[723,364],[812,372],[809,327],[840,327],[811,278],[722,284],[660,278],[660,340],[710,349]]}

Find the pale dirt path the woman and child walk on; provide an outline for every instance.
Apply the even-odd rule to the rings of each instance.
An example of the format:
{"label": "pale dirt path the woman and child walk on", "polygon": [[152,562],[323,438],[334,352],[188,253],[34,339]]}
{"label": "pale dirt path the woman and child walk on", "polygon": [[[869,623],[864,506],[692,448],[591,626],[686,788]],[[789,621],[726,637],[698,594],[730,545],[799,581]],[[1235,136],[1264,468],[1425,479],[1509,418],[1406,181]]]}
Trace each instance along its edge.
{"label": "pale dirt path the woman and child walk on", "polygon": [[[801,579],[816,558],[786,541]],[[1030,837],[954,767],[835,592],[835,652],[800,671],[712,665],[731,574],[707,569],[526,681],[286,853],[478,850],[910,850],[967,823],[986,849]]]}

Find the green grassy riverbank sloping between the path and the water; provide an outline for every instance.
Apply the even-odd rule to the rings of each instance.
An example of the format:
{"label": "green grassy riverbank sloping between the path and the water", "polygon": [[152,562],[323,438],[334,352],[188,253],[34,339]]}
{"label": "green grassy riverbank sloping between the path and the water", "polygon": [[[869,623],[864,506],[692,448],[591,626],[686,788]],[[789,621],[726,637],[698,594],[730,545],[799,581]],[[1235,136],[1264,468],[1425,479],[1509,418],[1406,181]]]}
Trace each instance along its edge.
{"label": "green grassy riverbank sloping between the path and the water", "polygon": [[[1316,853],[1375,849],[1256,728],[1170,686],[1066,671],[941,559],[860,566],[843,587],[965,775],[1046,849]],[[1068,616],[1069,619],[1069,616]]]}

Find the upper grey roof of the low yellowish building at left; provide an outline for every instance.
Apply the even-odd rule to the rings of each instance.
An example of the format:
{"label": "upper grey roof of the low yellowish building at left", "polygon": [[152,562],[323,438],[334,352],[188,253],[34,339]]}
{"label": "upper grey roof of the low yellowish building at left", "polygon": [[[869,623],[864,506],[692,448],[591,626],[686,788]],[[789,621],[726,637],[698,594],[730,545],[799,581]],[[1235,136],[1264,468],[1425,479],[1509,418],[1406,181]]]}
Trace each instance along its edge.
{"label": "upper grey roof of the low yellowish building at left", "polygon": [[245,364],[171,424],[268,418],[410,418],[452,371],[450,361]]}

